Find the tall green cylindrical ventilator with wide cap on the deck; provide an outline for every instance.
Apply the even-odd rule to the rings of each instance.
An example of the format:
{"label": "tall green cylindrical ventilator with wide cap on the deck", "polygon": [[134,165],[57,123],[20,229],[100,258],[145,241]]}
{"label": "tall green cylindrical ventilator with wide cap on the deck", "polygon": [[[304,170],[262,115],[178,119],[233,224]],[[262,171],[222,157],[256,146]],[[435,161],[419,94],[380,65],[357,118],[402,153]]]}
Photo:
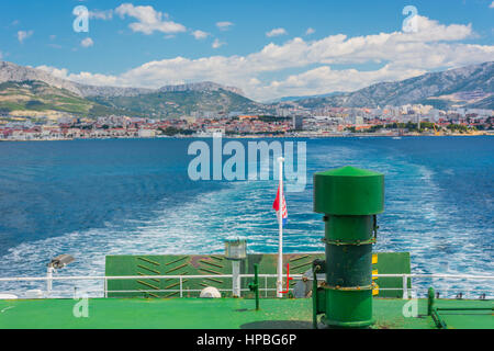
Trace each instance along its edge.
{"label": "tall green cylindrical ventilator with wide cap on the deck", "polygon": [[[372,325],[372,245],[384,211],[384,176],[344,167],[314,176],[314,211],[324,214],[326,261],[314,262],[317,315],[333,328]],[[317,273],[326,282],[317,286]]]}

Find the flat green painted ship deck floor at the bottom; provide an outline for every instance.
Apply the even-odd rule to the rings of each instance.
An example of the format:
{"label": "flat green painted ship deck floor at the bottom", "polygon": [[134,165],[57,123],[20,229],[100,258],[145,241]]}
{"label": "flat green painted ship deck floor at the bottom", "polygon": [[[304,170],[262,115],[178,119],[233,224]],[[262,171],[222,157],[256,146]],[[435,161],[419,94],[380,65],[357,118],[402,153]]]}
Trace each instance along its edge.
{"label": "flat green painted ship deck floor at the bottom", "polygon": [[[312,328],[312,299],[89,299],[89,317],[76,318],[74,299],[0,301],[0,329],[300,329]],[[406,301],[374,299],[373,328],[433,329],[427,301],[416,318],[403,317]],[[492,308],[492,301],[437,301],[436,307]],[[492,329],[487,312],[441,313],[449,328]]]}

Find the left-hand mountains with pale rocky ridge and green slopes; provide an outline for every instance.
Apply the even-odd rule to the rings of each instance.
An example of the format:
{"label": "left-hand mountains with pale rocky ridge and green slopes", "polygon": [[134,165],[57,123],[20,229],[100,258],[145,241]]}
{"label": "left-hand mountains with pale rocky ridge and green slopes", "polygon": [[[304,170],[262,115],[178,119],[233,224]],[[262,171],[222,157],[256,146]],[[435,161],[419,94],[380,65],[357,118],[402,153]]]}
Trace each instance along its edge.
{"label": "left-hand mountains with pale rocky ridge and green slopes", "polygon": [[209,81],[159,89],[97,87],[60,79],[41,69],[0,63],[0,112],[3,113],[166,118],[195,111],[226,115],[259,107],[262,105],[245,98],[240,89]]}

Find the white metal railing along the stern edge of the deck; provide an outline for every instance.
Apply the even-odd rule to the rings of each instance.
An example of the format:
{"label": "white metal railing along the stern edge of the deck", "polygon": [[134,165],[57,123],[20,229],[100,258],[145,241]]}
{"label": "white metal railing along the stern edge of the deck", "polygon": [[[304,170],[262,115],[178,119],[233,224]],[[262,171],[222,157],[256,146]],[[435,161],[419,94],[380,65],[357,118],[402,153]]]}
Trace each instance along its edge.
{"label": "white metal railing along the stern edge of the deck", "polygon": [[[380,278],[400,278],[402,280],[402,286],[401,287],[389,287],[389,288],[380,288],[380,291],[403,291],[402,297],[404,299],[409,299],[414,297],[414,292],[417,291],[417,287],[408,287],[408,284],[412,280],[450,280],[453,282],[464,282],[464,281],[478,281],[478,282],[485,282],[485,281],[494,281],[494,275],[467,275],[467,274],[374,274],[373,278],[380,279]],[[290,275],[290,278],[293,281],[300,281],[304,279],[301,274],[294,274]],[[109,281],[122,281],[122,280],[178,280],[178,288],[167,288],[167,290],[132,290],[132,291],[115,291],[115,290],[108,290],[108,283]],[[115,294],[115,293],[176,293],[180,297],[183,297],[187,293],[200,293],[201,290],[188,290],[183,288],[184,280],[193,280],[193,279],[233,279],[232,274],[226,275],[127,275],[127,276],[36,276],[36,278],[0,278],[0,295],[1,294],[13,294],[20,298],[56,298],[56,297],[67,297],[67,296],[75,296],[78,293],[82,292],[86,294],[93,294],[98,293],[94,297],[108,297],[109,293]],[[254,274],[240,274],[239,279],[254,279]],[[261,295],[265,297],[268,297],[269,292],[276,292],[276,284],[274,286],[270,287],[268,284],[268,279],[277,279],[276,274],[259,274],[259,279],[262,282],[262,286],[259,288],[261,292]],[[283,279],[287,279],[287,275],[283,276]],[[312,278],[305,278],[308,281],[312,281]],[[318,281],[324,281],[325,275],[324,274],[317,274]],[[54,282],[87,282],[87,281],[98,281],[103,283],[103,287],[99,290],[86,290],[82,288],[80,292],[77,291],[77,287],[75,290],[68,291],[56,291],[52,288],[52,285]],[[22,297],[22,295],[25,295],[25,290],[16,292],[15,290],[9,290],[5,292],[1,291],[1,284],[2,283],[30,283],[30,282],[41,282],[45,283],[46,287],[45,290],[36,290],[36,294],[30,295],[26,297]],[[431,283],[430,285],[434,285]],[[436,286],[435,286],[436,287]],[[220,292],[233,292],[233,287],[231,288],[220,288]],[[248,292],[248,288],[242,288],[240,292]],[[291,288],[293,291],[293,288]],[[463,293],[475,293],[476,296],[472,297],[483,297],[486,299],[492,298],[492,284],[489,287],[475,287],[475,288],[436,288],[438,292],[448,292],[451,291],[460,297],[467,297],[468,295],[463,295]],[[445,297],[447,294],[445,294]]]}

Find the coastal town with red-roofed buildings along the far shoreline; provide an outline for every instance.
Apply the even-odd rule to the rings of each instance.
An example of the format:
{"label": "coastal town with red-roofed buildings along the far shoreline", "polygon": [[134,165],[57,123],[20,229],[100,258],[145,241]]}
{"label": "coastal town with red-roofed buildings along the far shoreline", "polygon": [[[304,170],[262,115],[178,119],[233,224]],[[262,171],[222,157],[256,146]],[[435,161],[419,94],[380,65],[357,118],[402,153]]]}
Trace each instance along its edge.
{"label": "coastal town with red-roofed buildings along the far shoreline", "polygon": [[493,135],[494,110],[441,111],[429,105],[384,109],[326,107],[278,110],[276,115],[193,113],[173,120],[109,115],[98,118],[63,114],[0,115],[0,140],[67,140],[97,138],[338,137],[352,135]]}

